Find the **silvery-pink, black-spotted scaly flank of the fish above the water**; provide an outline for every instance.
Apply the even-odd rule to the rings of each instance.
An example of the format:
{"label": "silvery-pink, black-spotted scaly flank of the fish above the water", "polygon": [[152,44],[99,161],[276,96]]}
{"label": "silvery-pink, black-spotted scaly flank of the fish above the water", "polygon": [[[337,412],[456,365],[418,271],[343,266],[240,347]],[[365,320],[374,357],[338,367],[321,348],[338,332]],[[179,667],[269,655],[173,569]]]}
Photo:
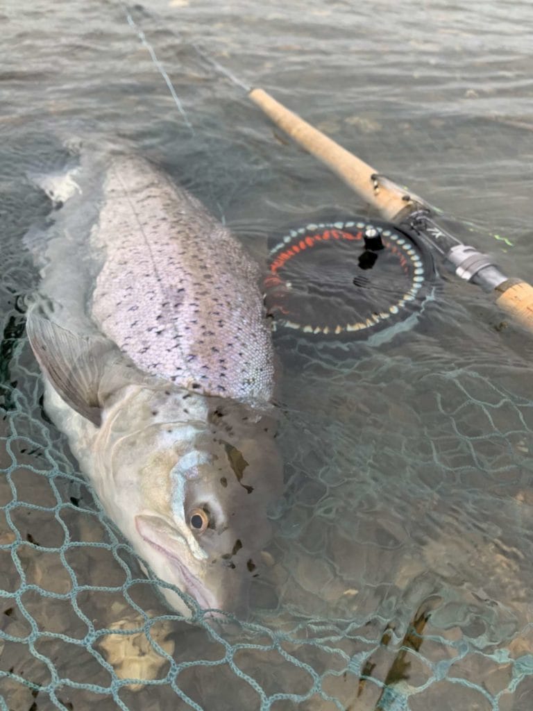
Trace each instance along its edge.
{"label": "silvery-pink, black-spotted scaly flank of the fish above the water", "polygon": [[269,402],[271,334],[257,266],[239,242],[143,159],[115,158],[103,195],[91,306],[102,332],[146,373],[205,395]]}

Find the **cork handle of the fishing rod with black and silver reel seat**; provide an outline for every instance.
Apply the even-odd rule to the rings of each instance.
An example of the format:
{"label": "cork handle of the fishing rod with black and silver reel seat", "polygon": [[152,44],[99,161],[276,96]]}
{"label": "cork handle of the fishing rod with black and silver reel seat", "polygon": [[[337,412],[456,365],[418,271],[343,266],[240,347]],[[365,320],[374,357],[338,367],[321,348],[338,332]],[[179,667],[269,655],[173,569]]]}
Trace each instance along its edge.
{"label": "cork handle of the fishing rod with black and silver reel seat", "polygon": [[490,256],[465,245],[438,225],[431,205],[381,176],[372,166],[308,124],[263,89],[252,88],[248,97],[299,146],[375,207],[385,220],[411,237],[424,240],[458,277],[492,293],[500,309],[533,331],[533,287],[530,284],[507,277]]}

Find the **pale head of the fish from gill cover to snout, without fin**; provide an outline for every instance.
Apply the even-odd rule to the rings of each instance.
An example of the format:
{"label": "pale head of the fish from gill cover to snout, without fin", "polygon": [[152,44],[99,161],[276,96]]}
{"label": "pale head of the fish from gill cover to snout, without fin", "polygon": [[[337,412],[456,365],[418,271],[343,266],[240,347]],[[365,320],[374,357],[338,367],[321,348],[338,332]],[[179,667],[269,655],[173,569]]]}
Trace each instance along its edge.
{"label": "pale head of the fish from gill cover to snout, without fin", "polygon": [[[106,457],[113,486],[100,496],[159,578],[202,609],[243,614],[272,535],[269,505],[281,494],[275,422],[241,404],[194,408],[194,397],[187,415],[182,403],[177,415],[157,407],[163,421],[116,438]],[[161,590],[191,613],[183,597]]]}

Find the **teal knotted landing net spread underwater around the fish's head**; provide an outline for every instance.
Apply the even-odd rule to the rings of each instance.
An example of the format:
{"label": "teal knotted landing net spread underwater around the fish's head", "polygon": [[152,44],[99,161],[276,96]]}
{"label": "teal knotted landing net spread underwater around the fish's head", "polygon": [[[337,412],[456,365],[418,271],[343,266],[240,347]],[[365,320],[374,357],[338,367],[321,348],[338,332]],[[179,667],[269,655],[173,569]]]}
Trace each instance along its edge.
{"label": "teal knotted landing net spread underwater around the fish's head", "polygon": [[529,708],[533,383],[519,358],[496,373],[468,348],[413,360],[416,339],[357,361],[303,348],[286,397],[297,371],[314,387],[281,427],[265,606],[232,626],[184,621],[43,413],[6,274],[3,708]]}

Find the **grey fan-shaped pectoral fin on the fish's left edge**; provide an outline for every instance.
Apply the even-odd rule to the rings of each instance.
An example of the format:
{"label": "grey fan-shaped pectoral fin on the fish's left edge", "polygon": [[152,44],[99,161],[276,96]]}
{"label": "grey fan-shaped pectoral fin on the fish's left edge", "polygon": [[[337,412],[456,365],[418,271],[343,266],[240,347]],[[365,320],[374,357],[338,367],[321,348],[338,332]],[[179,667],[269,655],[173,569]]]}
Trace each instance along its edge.
{"label": "grey fan-shaped pectoral fin on the fish's left edge", "polygon": [[58,326],[37,306],[28,312],[26,331],[43,373],[55,390],[80,415],[99,426],[104,373],[117,358],[119,348],[99,336],[79,336]]}

